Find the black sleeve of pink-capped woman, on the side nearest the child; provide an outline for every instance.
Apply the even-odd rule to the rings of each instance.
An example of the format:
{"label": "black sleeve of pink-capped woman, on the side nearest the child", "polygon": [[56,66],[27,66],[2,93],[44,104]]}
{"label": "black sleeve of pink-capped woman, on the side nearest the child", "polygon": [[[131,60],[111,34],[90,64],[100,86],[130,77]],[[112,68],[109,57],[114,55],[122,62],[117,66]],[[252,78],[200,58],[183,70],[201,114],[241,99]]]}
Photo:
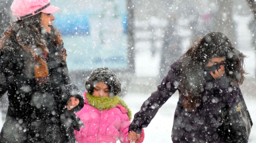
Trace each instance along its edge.
{"label": "black sleeve of pink-capped woman, on the side nearest the child", "polygon": [[75,96],[79,98],[79,105],[75,107],[75,111],[82,109],[84,105],[84,96],[80,92],[79,88],[71,83],[69,76],[69,69],[65,61],[65,48],[63,43],[48,43],[49,55],[48,55],[48,67],[51,74],[50,82],[51,86],[56,89],[53,90],[53,94],[61,95],[60,100],[63,105],[67,105],[69,98]]}

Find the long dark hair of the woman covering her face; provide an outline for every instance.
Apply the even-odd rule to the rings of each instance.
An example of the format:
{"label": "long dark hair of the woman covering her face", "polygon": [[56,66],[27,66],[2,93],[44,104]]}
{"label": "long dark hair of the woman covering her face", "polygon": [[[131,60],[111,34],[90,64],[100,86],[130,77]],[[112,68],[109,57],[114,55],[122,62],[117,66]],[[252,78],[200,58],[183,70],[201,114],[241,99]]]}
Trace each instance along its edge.
{"label": "long dark hair of the woman covering her face", "polygon": [[189,110],[196,110],[204,91],[204,67],[212,57],[225,57],[225,73],[231,84],[239,86],[243,83],[243,60],[245,55],[232,46],[228,37],[222,32],[210,32],[199,40],[183,54],[179,61],[181,73],[181,93],[185,95],[183,106]]}

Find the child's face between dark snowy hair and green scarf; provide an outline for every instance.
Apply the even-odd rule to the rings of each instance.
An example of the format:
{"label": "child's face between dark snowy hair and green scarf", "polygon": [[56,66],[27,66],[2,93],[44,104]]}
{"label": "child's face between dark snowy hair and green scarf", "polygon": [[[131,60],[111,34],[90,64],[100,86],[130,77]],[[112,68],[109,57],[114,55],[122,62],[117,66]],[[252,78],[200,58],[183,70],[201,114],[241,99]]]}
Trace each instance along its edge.
{"label": "child's face between dark snowy hair and green scarf", "polygon": [[98,96],[101,98],[109,97],[110,90],[108,89],[108,85],[104,84],[103,82],[98,82],[94,87],[92,96]]}

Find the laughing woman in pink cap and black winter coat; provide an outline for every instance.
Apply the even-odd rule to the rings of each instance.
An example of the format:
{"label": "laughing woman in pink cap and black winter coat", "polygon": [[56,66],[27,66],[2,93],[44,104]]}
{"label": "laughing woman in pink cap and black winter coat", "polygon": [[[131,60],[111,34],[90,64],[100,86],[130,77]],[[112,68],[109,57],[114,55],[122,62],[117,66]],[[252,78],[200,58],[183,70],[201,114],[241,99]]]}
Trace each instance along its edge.
{"label": "laughing woman in pink cap and black winter coat", "polygon": [[58,10],[49,0],[11,5],[18,20],[0,42],[0,98],[8,92],[9,99],[0,142],[75,142],[84,96],[71,84],[67,53],[52,26]]}

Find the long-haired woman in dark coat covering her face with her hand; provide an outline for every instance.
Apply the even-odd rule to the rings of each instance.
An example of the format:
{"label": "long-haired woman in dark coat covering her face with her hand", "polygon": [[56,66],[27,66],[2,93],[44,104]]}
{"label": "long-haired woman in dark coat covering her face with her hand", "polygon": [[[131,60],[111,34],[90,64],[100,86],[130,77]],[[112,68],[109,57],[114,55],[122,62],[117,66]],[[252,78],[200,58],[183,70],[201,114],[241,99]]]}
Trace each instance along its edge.
{"label": "long-haired woman in dark coat covering her face with her hand", "polygon": [[210,32],[196,40],[143,103],[129,131],[139,134],[178,90],[173,142],[247,142],[249,135],[243,134],[246,130],[231,113],[243,100],[239,86],[246,73],[244,58],[221,32]]}

